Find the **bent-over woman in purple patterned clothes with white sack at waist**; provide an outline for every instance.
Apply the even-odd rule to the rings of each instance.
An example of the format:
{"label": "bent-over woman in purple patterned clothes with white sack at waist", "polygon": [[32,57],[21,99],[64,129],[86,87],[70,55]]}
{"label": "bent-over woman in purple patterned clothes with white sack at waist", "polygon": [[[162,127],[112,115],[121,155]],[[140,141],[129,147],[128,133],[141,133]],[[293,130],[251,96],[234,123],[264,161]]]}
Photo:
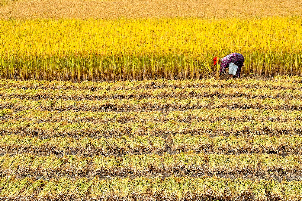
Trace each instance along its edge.
{"label": "bent-over woman in purple patterned clothes with white sack at waist", "polygon": [[[219,75],[222,75],[226,68],[229,68],[230,78],[239,77],[243,66],[244,57],[239,53],[229,54],[221,59]],[[216,63],[216,62],[215,62]]]}

